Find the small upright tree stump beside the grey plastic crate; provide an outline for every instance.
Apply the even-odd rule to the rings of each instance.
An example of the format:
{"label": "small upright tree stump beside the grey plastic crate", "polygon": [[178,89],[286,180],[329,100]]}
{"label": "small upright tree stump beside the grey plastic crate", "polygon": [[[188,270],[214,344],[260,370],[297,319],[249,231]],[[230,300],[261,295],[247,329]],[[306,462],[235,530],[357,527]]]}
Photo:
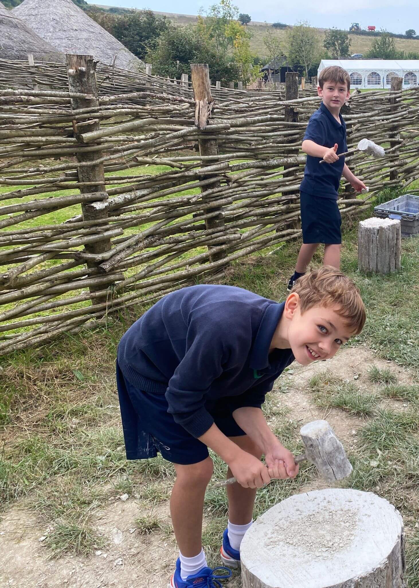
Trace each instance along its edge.
{"label": "small upright tree stump beside the grey plastic crate", "polygon": [[358,229],[358,268],[364,272],[384,274],[396,272],[400,266],[400,220],[361,220]]}

